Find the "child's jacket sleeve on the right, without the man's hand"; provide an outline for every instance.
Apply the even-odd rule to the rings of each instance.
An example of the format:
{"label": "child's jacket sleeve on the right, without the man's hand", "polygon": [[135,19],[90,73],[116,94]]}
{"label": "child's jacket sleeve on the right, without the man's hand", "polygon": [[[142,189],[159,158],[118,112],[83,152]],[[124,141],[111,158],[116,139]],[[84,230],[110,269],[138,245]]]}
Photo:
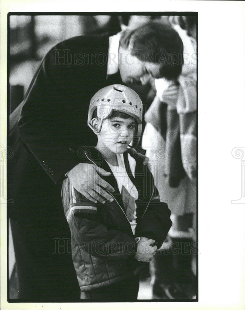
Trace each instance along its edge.
{"label": "child's jacket sleeve on the right, without the man's hand", "polygon": [[171,211],[167,203],[161,202],[157,188],[154,186],[152,198],[145,214],[136,226],[136,236],[154,239],[159,249],[172,225]]}

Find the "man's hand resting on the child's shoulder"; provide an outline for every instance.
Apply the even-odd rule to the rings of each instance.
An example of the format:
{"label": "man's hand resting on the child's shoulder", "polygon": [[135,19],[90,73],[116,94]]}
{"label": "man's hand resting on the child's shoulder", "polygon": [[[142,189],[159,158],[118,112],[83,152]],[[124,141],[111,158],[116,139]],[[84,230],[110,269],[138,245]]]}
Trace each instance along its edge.
{"label": "man's hand resting on the child's shoulder", "polygon": [[114,188],[101,179],[100,175],[108,176],[110,172],[95,165],[81,162],[67,173],[73,187],[88,200],[95,203],[97,201],[105,203],[104,199],[113,201],[113,197],[103,187],[110,192],[114,192]]}

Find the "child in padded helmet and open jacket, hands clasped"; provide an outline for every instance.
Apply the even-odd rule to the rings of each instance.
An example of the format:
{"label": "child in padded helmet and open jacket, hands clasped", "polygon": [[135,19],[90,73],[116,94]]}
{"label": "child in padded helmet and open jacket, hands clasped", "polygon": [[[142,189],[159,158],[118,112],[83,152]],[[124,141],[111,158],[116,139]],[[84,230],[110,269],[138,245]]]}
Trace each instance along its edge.
{"label": "child in padded helmet and open jacket, hands clasped", "polygon": [[102,88],[90,101],[88,126],[98,143],[80,154],[111,171],[104,179],[115,188],[114,201],[93,203],[68,178],[63,182],[81,299],[136,301],[139,273],[171,227],[170,210],[159,201],[145,157],[129,147],[134,135],[140,136],[142,113],[140,97],[122,85]]}

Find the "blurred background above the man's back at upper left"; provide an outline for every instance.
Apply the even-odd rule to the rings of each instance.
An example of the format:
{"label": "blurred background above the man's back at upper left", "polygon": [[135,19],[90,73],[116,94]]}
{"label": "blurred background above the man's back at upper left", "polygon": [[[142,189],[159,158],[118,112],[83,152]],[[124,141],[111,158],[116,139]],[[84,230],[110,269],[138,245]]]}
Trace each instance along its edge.
{"label": "blurred background above the man's back at upper left", "polygon": [[117,33],[167,16],[138,15],[10,15],[10,111],[22,101],[46,53],[58,42],[79,35]]}

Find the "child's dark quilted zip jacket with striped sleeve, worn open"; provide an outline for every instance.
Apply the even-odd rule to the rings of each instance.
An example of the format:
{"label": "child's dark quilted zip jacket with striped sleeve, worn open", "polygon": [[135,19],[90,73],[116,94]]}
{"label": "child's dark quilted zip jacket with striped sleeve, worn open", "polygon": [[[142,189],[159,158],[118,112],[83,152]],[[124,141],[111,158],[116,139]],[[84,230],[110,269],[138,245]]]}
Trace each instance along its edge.
{"label": "child's dark quilted zip jacket with striped sleeve, worn open", "polygon": [[[135,178],[128,163],[128,154],[135,159]],[[136,186],[136,232],[132,233],[130,222],[122,203],[116,179],[108,164],[94,149],[80,152],[82,162],[96,164],[111,172],[103,177],[115,188],[113,202],[93,203],[63,181],[62,200],[66,219],[71,230],[72,257],[81,291],[92,290],[112,284],[139,273],[146,263],[137,261],[135,237],[148,237],[157,241],[159,248],[171,227],[170,210],[159,201],[153,176],[144,164],[145,157],[129,148],[123,154],[129,178]]]}

